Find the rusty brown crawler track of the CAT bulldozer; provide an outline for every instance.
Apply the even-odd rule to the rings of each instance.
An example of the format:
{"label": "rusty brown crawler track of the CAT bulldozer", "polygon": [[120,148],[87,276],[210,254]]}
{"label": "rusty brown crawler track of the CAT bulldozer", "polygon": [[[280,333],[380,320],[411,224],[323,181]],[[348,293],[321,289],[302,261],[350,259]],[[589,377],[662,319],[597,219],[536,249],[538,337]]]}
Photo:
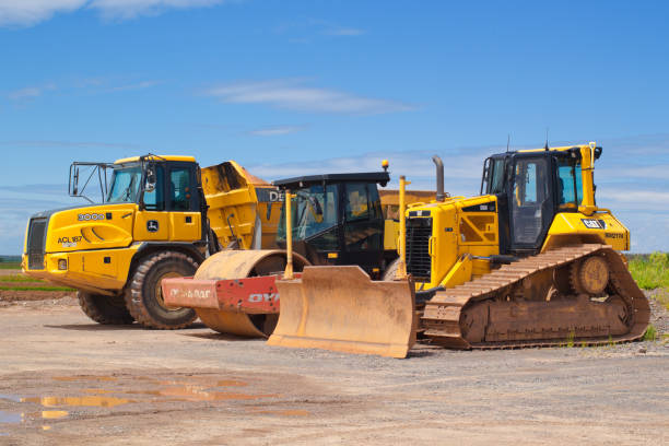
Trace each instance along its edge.
{"label": "rusty brown crawler track of the CAT bulldozer", "polygon": [[[601,256],[609,268],[608,301],[576,291],[547,301],[527,291],[558,268],[591,256]],[[437,292],[422,322],[431,342],[447,348],[515,349],[634,341],[643,337],[649,317],[648,300],[621,256],[607,245],[583,244],[526,257]]]}

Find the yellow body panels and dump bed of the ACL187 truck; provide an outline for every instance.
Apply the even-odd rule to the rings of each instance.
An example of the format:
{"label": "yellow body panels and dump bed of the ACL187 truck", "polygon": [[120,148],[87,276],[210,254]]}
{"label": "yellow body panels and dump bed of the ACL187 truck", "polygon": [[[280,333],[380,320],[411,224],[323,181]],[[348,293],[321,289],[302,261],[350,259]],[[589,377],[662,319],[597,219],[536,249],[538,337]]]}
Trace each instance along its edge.
{"label": "yellow body panels and dump bed of the ACL187 truck", "polygon": [[[150,156],[144,161],[197,166],[192,156]],[[140,157],[116,161],[116,166]],[[278,189],[234,161],[202,168],[201,181],[210,227],[221,246],[272,248],[282,197]],[[31,265],[28,235],[39,219],[45,224],[43,259]],[[155,222],[155,223],[154,223]],[[47,211],[26,227],[22,268],[26,274],[94,294],[118,295],[133,262],[150,247],[187,250],[203,259],[202,212],[149,210],[134,202],[103,203]]]}

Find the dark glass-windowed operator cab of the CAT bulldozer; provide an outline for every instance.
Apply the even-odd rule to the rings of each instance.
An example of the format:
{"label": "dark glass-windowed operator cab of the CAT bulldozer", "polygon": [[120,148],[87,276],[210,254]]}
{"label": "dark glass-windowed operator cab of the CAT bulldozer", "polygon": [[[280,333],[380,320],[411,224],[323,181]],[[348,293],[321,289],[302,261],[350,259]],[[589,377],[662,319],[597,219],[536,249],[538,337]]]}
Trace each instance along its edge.
{"label": "dark glass-windowed operator cab of the CAT bulldozer", "polygon": [[[601,148],[594,148],[594,160]],[[592,163],[594,163],[592,160]],[[554,216],[577,212],[584,202],[582,148],[519,151],[485,160],[481,195],[497,198],[500,254],[535,254],[541,249]]]}

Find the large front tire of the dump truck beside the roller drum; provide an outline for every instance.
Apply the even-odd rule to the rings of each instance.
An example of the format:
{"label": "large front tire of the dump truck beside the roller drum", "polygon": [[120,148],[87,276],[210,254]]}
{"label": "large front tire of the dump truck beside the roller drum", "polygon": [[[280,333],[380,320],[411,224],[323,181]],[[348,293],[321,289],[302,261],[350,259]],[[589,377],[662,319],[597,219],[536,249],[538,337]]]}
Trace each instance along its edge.
{"label": "large front tire of the dump truck beside the roller drum", "polygon": [[146,328],[174,330],[189,326],[197,315],[192,308],[169,308],[163,303],[161,281],[195,274],[198,262],[181,253],[165,251],[143,259],[126,291],[126,306]]}

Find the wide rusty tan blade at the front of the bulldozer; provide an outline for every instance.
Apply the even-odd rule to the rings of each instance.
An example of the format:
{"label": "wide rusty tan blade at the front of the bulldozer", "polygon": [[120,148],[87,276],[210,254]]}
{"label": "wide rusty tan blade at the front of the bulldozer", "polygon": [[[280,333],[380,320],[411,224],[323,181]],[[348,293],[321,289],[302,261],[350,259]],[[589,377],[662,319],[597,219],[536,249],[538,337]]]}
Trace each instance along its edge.
{"label": "wide rusty tan blade at the front of the bulldozer", "polygon": [[373,282],[357,266],[305,267],[277,289],[281,313],[270,345],[406,357],[415,341],[409,281]]}

